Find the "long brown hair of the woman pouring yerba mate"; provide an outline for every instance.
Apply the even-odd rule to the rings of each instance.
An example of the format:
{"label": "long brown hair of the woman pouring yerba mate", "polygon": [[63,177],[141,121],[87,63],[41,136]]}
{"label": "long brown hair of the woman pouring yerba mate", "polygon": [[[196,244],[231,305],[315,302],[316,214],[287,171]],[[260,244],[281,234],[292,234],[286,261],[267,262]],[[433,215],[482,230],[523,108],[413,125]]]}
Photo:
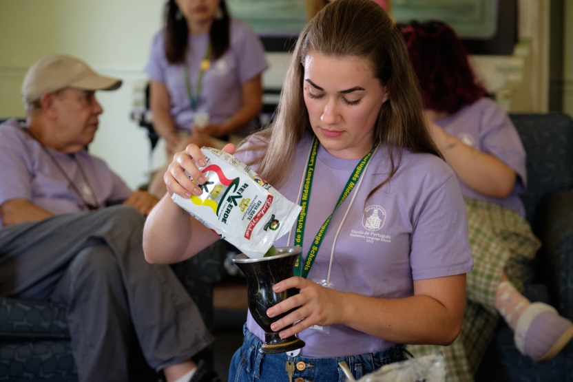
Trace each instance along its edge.
{"label": "long brown hair of the woman pouring yerba mate", "polygon": [[302,94],[304,59],[313,52],[336,58],[364,57],[371,62],[374,76],[388,90],[389,99],[380,108],[373,132],[375,142],[393,148],[388,150],[390,175],[379,187],[396,173],[404,149],[441,158],[428,134],[419,87],[402,34],[374,1],[336,0],[324,7],[300,34],[275,122],[251,138],[250,149],[272,153],[263,153],[253,160],[260,163],[258,172],[267,182],[277,187],[282,184],[304,134],[314,134]]}

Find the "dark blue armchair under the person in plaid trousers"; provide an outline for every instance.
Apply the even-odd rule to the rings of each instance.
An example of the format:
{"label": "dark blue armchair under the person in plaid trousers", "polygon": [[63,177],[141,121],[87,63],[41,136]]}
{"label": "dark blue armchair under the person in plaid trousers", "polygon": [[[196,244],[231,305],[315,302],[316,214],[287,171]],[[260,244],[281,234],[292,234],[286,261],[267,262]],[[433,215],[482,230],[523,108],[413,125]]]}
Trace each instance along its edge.
{"label": "dark blue armchair under the person in plaid trousers", "polygon": [[[527,220],[543,246],[532,263],[531,301],[555,306],[573,320],[573,120],[561,113],[510,115],[527,153]],[[500,320],[503,321],[503,320]],[[548,363],[519,353],[500,322],[476,373],[477,382],[573,382],[573,344]]]}

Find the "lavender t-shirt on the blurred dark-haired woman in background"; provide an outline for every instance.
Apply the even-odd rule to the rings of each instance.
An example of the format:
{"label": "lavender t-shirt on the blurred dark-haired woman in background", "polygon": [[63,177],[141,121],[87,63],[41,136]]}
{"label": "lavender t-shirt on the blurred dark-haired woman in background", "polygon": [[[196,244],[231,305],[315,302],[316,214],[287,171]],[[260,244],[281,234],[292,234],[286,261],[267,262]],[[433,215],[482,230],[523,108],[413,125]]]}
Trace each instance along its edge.
{"label": "lavender t-shirt on the blurred dark-haired woman in background", "polygon": [[[264,47],[249,25],[231,19],[229,50],[211,63],[203,75],[198,112],[208,112],[211,123],[223,123],[242,106],[242,84],[251,80],[269,66]],[[189,34],[186,63],[191,85],[195,87],[200,62],[205,57],[209,33]],[[156,34],[145,72],[153,80],[165,83],[171,99],[171,116],[179,129],[191,129],[194,112],[185,86],[185,66],[170,64],[165,57],[165,31]],[[252,121],[233,134],[246,136],[256,127]]]}

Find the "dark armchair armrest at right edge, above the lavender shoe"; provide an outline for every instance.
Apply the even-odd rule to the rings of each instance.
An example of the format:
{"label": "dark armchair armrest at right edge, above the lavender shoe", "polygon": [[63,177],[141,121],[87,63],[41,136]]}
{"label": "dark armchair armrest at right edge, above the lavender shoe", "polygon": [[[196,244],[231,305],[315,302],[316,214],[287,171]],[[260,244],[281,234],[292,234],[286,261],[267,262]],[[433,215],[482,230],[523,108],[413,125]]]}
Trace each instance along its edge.
{"label": "dark armchair armrest at right edge, above the lavender shoe", "polygon": [[543,243],[537,256],[552,304],[573,319],[573,189],[555,191],[537,208],[534,231]]}

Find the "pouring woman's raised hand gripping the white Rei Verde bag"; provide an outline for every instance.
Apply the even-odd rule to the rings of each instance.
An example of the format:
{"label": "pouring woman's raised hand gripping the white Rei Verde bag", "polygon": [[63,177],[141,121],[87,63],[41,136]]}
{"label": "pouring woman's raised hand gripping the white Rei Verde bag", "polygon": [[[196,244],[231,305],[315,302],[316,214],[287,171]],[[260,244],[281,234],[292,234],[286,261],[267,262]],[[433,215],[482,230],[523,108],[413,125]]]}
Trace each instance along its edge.
{"label": "pouring woman's raised hand gripping the white Rei Verde bag", "polygon": [[[232,154],[235,152],[235,145],[229,143],[223,147],[223,151]],[[187,145],[184,151],[174,155],[173,162],[169,164],[163,176],[169,195],[173,196],[176,193],[183,198],[191,198],[191,194],[201,195],[202,189],[198,184],[205,183],[205,176],[197,165],[200,167],[207,165],[205,156],[197,145]],[[184,171],[187,171],[192,180]]]}

